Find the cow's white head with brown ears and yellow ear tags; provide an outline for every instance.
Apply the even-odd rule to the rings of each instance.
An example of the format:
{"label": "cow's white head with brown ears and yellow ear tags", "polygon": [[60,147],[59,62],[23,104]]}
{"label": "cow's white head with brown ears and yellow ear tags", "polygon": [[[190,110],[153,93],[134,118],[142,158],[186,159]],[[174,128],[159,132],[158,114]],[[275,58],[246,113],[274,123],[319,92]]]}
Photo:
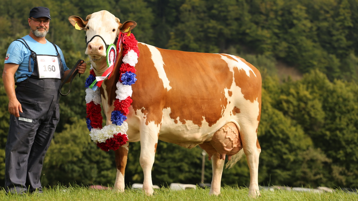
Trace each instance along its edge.
{"label": "cow's white head with brown ears and yellow ear tags", "polygon": [[135,21],[126,21],[121,24],[118,18],[106,10],[87,15],[86,21],[74,15],[69,16],[68,20],[74,28],[86,31],[85,54],[91,59],[105,58],[106,45],[115,43],[120,31],[127,33],[137,25]]}

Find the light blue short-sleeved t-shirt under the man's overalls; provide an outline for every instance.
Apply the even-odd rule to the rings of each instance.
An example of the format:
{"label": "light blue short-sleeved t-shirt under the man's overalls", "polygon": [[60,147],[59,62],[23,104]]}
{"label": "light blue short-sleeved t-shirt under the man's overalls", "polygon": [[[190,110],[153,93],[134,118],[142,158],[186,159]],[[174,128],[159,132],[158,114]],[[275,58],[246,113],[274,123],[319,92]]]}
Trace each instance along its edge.
{"label": "light blue short-sleeved t-shirt under the man's overalls", "polygon": [[[31,36],[26,35],[23,37],[26,43],[30,46],[32,51],[36,54],[46,54],[46,55],[57,55],[55,47],[46,40],[45,44],[41,44],[31,38]],[[63,64],[63,70],[68,70],[68,67],[65,63],[62,50],[56,45],[58,53],[61,55],[61,61]],[[26,48],[26,46],[20,41],[13,41],[9,48],[8,52],[6,52],[5,64],[7,63],[15,63],[20,64],[18,70],[15,72],[15,78],[17,82],[21,82],[26,79],[26,75],[30,76],[32,72],[29,72],[29,58],[31,55],[31,51]],[[31,69],[34,71],[34,60],[31,59]],[[20,78],[24,77],[24,78]]]}

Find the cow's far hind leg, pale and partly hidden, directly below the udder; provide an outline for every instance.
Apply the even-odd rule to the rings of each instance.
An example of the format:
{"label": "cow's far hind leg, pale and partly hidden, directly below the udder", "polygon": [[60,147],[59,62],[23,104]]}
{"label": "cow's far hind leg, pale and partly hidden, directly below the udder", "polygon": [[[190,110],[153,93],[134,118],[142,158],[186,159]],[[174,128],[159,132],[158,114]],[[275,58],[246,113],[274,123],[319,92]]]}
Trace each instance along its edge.
{"label": "cow's far hind leg, pale and partly hidden, directly below the udder", "polygon": [[213,178],[211,181],[211,187],[209,191],[209,195],[219,195],[221,188],[221,176],[223,173],[224,160],[220,159],[220,154],[213,154],[212,158],[212,166],[213,166]]}

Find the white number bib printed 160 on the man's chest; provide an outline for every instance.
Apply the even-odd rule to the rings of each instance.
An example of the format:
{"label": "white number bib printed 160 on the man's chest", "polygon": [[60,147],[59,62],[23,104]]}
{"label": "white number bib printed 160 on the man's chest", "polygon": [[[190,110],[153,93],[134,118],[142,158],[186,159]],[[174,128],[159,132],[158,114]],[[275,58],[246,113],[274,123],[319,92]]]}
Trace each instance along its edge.
{"label": "white number bib printed 160 on the man's chest", "polygon": [[37,55],[37,70],[39,78],[57,78],[61,79],[60,66],[58,58],[49,55]]}

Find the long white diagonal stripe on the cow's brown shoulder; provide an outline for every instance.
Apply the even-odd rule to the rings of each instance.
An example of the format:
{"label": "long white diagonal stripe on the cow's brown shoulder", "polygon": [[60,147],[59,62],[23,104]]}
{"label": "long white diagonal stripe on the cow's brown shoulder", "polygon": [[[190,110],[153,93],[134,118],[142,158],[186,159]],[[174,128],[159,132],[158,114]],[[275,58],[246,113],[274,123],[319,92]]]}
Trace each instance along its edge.
{"label": "long white diagonal stripe on the cow's brown shoulder", "polygon": [[160,54],[159,50],[154,46],[147,45],[147,44],[144,44],[144,43],[141,43],[141,44],[146,45],[147,48],[149,48],[150,53],[152,54],[151,59],[153,60],[154,67],[158,71],[159,78],[162,80],[164,88],[167,91],[169,91],[171,89],[171,86],[170,86],[170,82],[169,82],[168,77],[166,77],[166,73],[164,71],[163,57],[161,57],[161,54]]}

